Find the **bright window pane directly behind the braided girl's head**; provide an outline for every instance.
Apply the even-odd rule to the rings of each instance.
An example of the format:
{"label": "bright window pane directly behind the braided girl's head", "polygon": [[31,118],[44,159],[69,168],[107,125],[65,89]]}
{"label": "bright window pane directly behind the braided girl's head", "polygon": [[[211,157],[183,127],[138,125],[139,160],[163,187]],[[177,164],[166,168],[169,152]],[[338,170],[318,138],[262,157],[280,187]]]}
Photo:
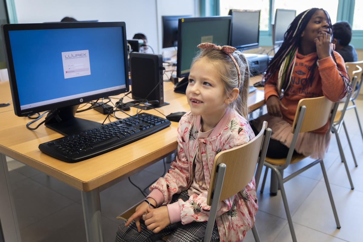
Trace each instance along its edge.
{"label": "bright window pane directly behind the braided girl's head", "polygon": [[[301,1],[275,0],[274,15],[277,8],[296,10],[296,15],[309,8],[323,8],[329,13],[331,23],[337,22],[338,0],[304,0],[303,2],[304,4],[301,4]],[[272,19],[274,20],[274,17]]]}

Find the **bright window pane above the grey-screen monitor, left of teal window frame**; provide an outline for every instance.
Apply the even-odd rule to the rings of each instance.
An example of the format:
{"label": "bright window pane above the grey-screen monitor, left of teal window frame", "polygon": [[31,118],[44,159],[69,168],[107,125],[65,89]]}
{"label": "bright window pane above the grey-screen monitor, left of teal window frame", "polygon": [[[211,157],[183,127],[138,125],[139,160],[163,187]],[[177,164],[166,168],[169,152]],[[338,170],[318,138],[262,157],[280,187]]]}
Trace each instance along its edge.
{"label": "bright window pane above the grey-screen monitor, left of teal window frame", "polygon": [[270,0],[223,0],[219,2],[220,15],[228,15],[229,9],[261,10],[260,30],[269,30]]}

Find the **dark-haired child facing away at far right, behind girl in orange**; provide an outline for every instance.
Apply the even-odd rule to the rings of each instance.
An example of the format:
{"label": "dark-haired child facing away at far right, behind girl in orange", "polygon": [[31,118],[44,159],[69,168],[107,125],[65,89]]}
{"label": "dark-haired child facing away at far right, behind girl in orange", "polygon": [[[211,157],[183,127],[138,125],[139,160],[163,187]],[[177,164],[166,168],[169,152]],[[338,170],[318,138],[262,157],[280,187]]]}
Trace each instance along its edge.
{"label": "dark-haired child facing away at far right, behind girl in orange", "polygon": [[333,24],[333,44],[335,51],[343,57],[344,62],[358,61],[358,55],[354,46],[350,43],[352,39],[352,27],[347,21],[339,21]]}

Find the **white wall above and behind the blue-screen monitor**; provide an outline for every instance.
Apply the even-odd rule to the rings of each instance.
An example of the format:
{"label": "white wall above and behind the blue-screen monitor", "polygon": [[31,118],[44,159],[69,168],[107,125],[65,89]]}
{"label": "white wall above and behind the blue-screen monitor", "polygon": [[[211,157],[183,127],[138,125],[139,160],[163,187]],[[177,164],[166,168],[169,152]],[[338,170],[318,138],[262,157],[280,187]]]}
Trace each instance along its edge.
{"label": "white wall above and behind the blue-screen monitor", "polygon": [[14,0],[18,23],[77,20],[125,21],[126,36],[144,33],[148,44],[161,53],[162,15],[196,15],[199,0]]}

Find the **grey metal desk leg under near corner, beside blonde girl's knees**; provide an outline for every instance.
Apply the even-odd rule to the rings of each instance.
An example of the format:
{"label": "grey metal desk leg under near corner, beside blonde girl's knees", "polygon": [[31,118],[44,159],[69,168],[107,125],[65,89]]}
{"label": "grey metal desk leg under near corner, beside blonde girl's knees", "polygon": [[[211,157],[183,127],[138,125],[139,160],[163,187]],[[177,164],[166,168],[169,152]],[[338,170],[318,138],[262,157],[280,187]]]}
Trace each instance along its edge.
{"label": "grey metal desk leg under near corner, beside blonde girl's knees", "polygon": [[98,188],[90,192],[81,191],[81,196],[87,242],[103,242],[101,202]]}

